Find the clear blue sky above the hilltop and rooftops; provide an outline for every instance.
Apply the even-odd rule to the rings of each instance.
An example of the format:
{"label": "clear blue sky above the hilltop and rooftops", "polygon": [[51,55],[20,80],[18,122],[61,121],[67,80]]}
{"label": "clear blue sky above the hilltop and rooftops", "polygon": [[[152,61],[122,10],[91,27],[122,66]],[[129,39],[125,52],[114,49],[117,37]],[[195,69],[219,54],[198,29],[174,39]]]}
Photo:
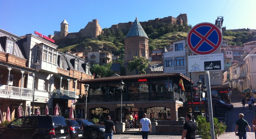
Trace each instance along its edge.
{"label": "clear blue sky above the hilltop and rooftops", "polygon": [[255,5],[256,0],[1,0],[0,28],[18,36],[53,35],[64,19],[68,32],[78,32],[93,19],[109,28],[133,22],[136,15],[144,22],[182,13],[192,26],[223,16],[226,29],[256,29]]}

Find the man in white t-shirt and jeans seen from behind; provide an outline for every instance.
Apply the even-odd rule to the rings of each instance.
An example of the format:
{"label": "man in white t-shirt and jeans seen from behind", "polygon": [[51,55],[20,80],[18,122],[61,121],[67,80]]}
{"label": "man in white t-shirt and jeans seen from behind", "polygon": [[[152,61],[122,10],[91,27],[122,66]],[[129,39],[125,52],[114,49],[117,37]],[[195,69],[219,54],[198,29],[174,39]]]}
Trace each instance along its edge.
{"label": "man in white t-shirt and jeans seen from behind", "polygon": [[148,139],[148,133],[151,133],[151,121],[147,118],[147,114],[143,114],[143,118],[140,119],[140,129],[142,132],[142,139]]}

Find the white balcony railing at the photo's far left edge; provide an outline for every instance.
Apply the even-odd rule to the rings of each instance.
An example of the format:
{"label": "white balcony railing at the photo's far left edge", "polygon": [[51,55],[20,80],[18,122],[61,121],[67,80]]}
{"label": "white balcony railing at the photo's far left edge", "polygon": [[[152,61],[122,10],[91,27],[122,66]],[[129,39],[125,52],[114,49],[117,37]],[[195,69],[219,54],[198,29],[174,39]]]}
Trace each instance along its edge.
{"label": "white balcony railing at the photo's far left edge", "polygon": [[[8,88],[8,92],[7,92]],[[21,88],[15,86],[1,85],[0,96],[16,96],[16,97],[27,97],[32,98],[33,89]]]}

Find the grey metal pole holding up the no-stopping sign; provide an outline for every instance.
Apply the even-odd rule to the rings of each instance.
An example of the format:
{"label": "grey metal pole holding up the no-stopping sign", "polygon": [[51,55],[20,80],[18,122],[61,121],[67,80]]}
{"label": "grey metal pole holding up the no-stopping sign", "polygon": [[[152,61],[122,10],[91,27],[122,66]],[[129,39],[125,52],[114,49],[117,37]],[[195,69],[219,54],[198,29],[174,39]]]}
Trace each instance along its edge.
{"label": "grey metal pole holding up the no-stopping sign", "polygon": [[214,135],[213,114],[212,114],[212,105],[211,105],[211,87],[210,87],[209,71],[205,71],[204,76],[206,78],[205,84],[207,86],[207,98],[208,98],[208,111],[209,111],[211,139],[214,139],[215,135]]}

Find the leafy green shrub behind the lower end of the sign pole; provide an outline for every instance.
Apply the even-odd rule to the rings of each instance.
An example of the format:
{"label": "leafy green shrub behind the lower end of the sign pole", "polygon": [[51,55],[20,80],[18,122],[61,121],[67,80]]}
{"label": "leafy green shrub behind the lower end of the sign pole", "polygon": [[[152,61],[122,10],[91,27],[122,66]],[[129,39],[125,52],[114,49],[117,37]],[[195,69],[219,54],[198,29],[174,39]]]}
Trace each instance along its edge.
{"label": "leafy green shrub behind the lower end of the sign pole", "polygon": [[[206,121],[206,118],[203,116],[197,116],[197,134],[202,136],[202,139],[210,139],[210,123]],[[227,125],[224,122],[218,122],[217,118],[213,118],[213,126],[214,126],[214,133],[215,139],[221,134],[224,133],[226,130]]]}

